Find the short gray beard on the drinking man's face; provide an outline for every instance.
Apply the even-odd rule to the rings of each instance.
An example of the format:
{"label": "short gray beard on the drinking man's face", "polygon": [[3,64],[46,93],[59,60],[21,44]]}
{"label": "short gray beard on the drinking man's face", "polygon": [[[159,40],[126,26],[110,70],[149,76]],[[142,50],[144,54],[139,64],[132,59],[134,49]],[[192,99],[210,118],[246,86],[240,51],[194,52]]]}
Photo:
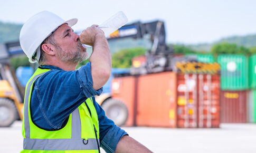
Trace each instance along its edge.
{"label": "short gray beard on the drinking man's face", "polygon": [[82,43],[79,41],[77,48],[75,48],[75,52],[69,52],[65,53],[60,46],[57,47],[58,54],[56,55],[60,60],[63,62],[71,62],[71,63],[80,63],[83,60],[86,60],[88,58],[88,53],[84,49],[83,52],[81,52]]}

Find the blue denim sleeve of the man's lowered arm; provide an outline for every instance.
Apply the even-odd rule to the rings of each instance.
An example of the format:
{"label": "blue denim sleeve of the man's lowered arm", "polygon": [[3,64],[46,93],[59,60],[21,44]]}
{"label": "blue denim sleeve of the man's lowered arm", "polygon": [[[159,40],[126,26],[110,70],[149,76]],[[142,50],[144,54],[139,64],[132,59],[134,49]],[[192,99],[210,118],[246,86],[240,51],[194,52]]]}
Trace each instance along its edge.
{"label": "blue denim sleeve of the man's lowered arm", "polygon": [[105,115],[105,111],[96,103],[93,97],[93,104],[97,111],[99,128],[100,128],[100,147],[106,152],[115,152],[119,140],[124,135],[128,135],[127,132]]}

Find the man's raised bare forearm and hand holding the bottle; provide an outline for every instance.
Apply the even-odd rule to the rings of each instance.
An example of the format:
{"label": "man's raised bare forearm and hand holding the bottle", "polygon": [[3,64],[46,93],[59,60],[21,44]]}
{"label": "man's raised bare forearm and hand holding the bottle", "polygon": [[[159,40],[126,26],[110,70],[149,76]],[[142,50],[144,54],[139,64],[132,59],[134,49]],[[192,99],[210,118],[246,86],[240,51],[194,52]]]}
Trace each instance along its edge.
{"label": "man's raised bare forearm and hand holding the bottle", "polygon": [[90,57],[92,88],[98,90],[105,85],[111,74],[111,54],[104,32],[97,25],[83,30],[79,39],[83,44],[93,47]]}

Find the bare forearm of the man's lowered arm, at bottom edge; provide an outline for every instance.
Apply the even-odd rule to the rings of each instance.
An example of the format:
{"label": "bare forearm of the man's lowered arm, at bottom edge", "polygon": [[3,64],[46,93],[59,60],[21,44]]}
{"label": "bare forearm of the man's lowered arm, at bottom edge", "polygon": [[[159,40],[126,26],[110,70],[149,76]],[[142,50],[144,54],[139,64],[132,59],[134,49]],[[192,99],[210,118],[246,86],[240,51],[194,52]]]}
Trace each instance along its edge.
{"label": "bare forearm of the man's lowered arm, at bottom edge", "polygon": [[140,144],[135,139],[125,135],[119,140],[115,152],[126,153],[126,152],[152,152],[152,151],[150,151],[147,147]]}

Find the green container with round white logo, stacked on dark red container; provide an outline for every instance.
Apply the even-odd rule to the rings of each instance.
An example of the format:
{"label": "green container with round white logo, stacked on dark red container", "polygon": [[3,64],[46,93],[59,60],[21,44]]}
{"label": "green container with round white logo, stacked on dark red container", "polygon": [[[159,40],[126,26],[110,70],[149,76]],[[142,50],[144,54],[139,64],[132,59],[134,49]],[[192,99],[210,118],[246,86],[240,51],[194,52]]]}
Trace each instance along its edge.
{"label": "green container with round white logo, stacked on dark red container", "polygon": [[221,66],[222,90],[248,89],[248,58],[245,55],[219,55],[217,63]]}

